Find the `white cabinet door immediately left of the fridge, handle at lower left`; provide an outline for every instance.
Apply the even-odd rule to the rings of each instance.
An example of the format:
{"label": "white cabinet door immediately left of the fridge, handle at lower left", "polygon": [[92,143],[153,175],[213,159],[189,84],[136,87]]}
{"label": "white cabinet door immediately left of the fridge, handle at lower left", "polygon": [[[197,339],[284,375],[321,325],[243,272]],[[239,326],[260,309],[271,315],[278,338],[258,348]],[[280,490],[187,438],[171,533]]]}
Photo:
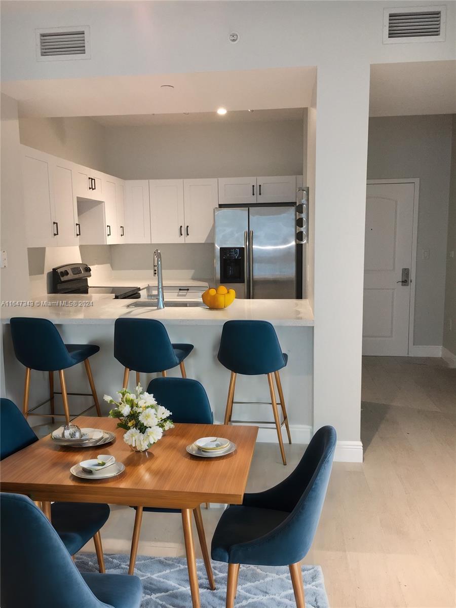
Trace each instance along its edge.
{"label": "white cabinet door immediately left of the fridge, handle at lower left", "polygon": [[217,179],[184,179],[185,243],[213,243]]}

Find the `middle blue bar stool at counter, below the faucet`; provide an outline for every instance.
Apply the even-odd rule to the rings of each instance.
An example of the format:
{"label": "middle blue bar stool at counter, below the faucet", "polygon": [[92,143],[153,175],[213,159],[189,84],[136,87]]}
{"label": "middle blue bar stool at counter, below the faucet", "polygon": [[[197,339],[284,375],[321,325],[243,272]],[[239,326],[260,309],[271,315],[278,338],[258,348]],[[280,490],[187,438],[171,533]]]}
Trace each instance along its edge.
{"label": "middle blue bar stool at counter, below the faucet", "polygon": [[156,319],[116,319],[114,324],[114,357],[125,367],[123,388],[128,387],[130,370],[139,374],[161,372],[181,368],[182,378],[187,378],[184,359],[192,352],[193,344],[171,344],[165,326]]}

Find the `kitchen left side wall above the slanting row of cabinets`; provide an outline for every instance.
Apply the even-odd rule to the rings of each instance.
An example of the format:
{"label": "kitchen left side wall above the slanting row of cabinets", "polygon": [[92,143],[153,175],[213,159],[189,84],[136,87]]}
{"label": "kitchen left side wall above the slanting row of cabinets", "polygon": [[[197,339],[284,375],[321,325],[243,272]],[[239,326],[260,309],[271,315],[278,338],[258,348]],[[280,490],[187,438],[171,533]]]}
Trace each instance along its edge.
{"label": "kitchen left side wall above the slanting row of cabinets", "polygon": [[86,117],[21,118],[21,143],[106,172],[105,127]]}

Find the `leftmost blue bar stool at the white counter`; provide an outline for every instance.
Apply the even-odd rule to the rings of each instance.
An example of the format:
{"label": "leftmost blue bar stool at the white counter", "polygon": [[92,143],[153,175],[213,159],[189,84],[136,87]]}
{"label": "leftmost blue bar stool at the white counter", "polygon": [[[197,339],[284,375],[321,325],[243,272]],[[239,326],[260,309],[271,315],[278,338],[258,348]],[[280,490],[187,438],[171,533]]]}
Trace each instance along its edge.
{"label": "leftmost blue bar stool at the white counter", "polygon": [[[87,395],[94,399],[94,405],[88,407],[84,412],[87,412],[92,407],[97,409],[97,415],[101,416],[100,404],[98,403],[97,391],[95,390],[94,378],[89,363],[89,357],[92,354],[98,353],[100,347],[95,344],[64,344],[58,333],[57,327],[47,319],[33,319],[29,317],[13,317],[10,320],[11,336],[13,339],[13,347],[18,361],[26,367],[26,383],[24,388],[24,402],[22,412],[28,418],[33,416],[46,416],[46,414],[35,413],[38,407],[44,406],[50,401],[50,415],[52,421],[54,416],[62,416],[63,414],[54,413],[54,371],[58,371],[61,384],[61,395],[63,400],[63,409],[65,420],[69,422],[73,414],[69,412],[68,395]],[[78,363],[84,362],[87,377],[91,388],[91,393],[68,393],[66,390],[66,382],[64,371],[69,367],[73,367]],[[43,403],[29,410],[29,392],[30,392],[30,372],[32,370],[49,372],[49,391],[50,398]],[[78,416],[80,414],[77,414]]]}

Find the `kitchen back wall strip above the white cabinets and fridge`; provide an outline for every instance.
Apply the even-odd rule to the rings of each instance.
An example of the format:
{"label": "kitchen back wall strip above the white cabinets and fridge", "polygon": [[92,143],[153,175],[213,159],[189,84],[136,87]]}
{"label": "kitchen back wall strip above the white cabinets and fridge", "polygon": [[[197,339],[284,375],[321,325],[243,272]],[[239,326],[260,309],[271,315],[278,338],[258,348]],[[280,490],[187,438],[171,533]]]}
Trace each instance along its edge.
{"label": "kitchen back wall strip above the white cabinets and fridge", "polygon": [[300,175],[302,120],[108,126],[106,166],[123,179]]}

